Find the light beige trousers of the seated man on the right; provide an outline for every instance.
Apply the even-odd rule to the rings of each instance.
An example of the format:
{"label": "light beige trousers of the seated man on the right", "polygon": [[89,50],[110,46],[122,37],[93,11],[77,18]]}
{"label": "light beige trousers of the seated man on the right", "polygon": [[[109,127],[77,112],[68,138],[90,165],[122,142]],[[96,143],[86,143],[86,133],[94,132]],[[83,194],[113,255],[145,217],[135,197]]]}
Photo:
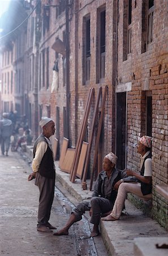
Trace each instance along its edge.
{"label": "light beige trousers of the seated man on the right", "polygon": [[115,200],[113,210],[110,213],[111,216],[113,216],[114,218],[118,219],[120,217],[123,210],[124,201],[127,199],[127,193],[132,193],[136,196],[139,196],[140,199],[144,201],[152,199],[152,194],[148,194],[145,196],[143,195],[143,193],[141,192],[140,183],[121,183],[118,188],[117,199]]}

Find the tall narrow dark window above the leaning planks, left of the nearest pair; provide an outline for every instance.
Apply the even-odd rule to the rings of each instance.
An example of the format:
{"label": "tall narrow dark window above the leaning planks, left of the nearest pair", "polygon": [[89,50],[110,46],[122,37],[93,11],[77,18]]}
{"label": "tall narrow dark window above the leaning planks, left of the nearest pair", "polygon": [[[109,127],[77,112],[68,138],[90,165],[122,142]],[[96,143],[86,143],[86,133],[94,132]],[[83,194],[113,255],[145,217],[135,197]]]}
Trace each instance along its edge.
{"label": "tall narrow dark window above the leaning planks, left of the nearest pair", "polygon": [[90,16],[83,19],[83,84],[90,80],[91,28]]}

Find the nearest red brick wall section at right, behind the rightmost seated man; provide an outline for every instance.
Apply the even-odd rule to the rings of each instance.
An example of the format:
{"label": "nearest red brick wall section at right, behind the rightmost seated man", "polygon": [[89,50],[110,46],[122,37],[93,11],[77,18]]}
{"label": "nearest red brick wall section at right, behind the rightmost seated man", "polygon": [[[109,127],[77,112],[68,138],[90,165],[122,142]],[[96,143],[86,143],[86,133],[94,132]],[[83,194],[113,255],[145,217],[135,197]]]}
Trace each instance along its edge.
{"label": "nearest red brick wall section at right, behind the rightmost seated man", "polygon": [[[133,1],[132,1],[133,2]],[[132,6],[132,52],[123,61],[123,3],[119,2],[118,77],[132,82],[127,93],[127,167],[139,170],[140,157],[133,144],[145,134],[145,95],[152,93],[153,216],[167,228],[167,202],[155,191],[167,184],[167,4],[154,1],[153,42],[141,53],[142,1]]]}

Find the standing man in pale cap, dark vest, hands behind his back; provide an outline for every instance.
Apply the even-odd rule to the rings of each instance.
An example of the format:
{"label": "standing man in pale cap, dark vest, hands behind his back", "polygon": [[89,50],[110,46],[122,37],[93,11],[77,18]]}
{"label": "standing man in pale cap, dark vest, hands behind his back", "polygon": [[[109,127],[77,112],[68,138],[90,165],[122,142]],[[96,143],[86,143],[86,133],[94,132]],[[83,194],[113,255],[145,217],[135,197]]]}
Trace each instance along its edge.
{"label": "standing man in pale cap, dark vest, hands behind his back", "polygon": [[28,181],[36,178],[35,184],[40,191],[37,230],[52,232],[51,229],[56,229],[49,223],[54,199],[55,166],[49,138],[55,133],[55,123],[49,117],[42,117],[39,125],[42,134],[36,139],[33,147],[33,172],[28,176]]}

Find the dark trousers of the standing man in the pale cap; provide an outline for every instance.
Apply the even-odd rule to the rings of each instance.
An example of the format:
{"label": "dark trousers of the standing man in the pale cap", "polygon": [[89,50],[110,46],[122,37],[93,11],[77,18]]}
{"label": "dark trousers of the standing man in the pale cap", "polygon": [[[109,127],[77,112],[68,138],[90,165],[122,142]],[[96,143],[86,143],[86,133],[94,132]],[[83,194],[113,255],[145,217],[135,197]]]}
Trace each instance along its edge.
{"label": "dark trousers of the standing man in the pale cap", "polygon": [[50,218],[51,206],[54,199],[55,175],[53,179],[49,179],[41,176],[37,172],[35,184],[40,191],[37,224],[37,228],[40,228],[40,226],[45,226]]}

